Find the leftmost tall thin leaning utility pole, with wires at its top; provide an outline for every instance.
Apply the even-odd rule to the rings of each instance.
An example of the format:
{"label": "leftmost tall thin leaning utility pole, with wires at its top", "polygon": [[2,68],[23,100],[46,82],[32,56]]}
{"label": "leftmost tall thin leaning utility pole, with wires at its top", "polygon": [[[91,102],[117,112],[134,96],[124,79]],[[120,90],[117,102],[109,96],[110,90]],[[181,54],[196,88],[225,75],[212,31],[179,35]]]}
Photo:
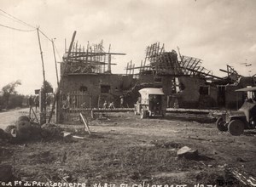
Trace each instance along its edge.
{"label": "leftmost tall thin leaning utility pole, with wires at its top", "polygon": [[[43,58],[43,51],[42,51],[40,35],[39,35],[39,27],[37,28],[37,31],[38,31],[39,50],[40,50],[40,54],[41,54],[41,61],[42,61],[42,67],[43,67],[43,78],[44,78],[44,83],[43,83],[44,84],[44,91],[43,91],[43,105],[44,105],[44,109],[43,110],[44,111],[43,112],[41,111],[40,118],[42,116],[43,119],[46,122],[46,105],[45,105],[45,100],[46,100],[46,84],[45,84],[44,58]],[[40,122],[42,122],[41,119],[40,119]]]}

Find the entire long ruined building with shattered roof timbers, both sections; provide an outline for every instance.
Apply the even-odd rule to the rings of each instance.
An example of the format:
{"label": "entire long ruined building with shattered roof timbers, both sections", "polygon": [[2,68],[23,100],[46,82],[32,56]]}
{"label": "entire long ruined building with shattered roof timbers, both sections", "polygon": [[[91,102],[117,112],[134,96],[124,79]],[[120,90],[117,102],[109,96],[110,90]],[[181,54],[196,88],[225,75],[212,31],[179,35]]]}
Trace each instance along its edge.
{"label": "entire long ruined building with shattered roof timbers, both sections", "polygon": [[110,52],[110,47],[106,50],[100,42],[88,43],[85,49],[75,43],[68,58],[66,50],[61,63],[58,119],[71,111],[103,108],[104,103],[119,107],[120,98],[125,100],[124,107],[132,108],[141,88],[162,88],[170,108],[237,109],[245,95],[235,90],[256,85],[254,76],[242,77],[230,65],[221,70],[227,77],[214,76],[202,66],[201,59],[182,55],[179,50],[168,52],[160,42],[146,48],[141,65],[131,61],[125,75],[113,74],[113,55],[125,54]]}

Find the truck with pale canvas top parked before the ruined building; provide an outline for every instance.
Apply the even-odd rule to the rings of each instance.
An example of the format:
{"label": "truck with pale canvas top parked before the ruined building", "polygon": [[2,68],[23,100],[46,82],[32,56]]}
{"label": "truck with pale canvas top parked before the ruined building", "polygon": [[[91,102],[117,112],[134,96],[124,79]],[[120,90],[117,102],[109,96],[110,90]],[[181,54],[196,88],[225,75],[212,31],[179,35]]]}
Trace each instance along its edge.
{"label": "truck with pale canvas top parked before the ruined building", "polygon": [[135,114],[141,118],[148,116],[165,116],[166,102],[162,88],[143,88],[139,90],[141,98],[135,105]]}

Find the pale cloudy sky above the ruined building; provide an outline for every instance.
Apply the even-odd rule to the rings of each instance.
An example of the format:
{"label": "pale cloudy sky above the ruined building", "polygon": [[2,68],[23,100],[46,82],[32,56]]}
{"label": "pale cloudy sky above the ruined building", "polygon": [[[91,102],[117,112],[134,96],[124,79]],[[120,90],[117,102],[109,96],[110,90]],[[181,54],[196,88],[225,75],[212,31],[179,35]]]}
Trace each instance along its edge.
{"label": "pale cloudy sky above the ruined building", "polygon": [[[57,60],[64,53],[73,31],[75,41],[103,40],[112,52],[125,53],[113,59],[113,73],[125,73],[131,59],[140,65],[145,48],[165,43],[166,51],[203,60],[214,75],[233,66],[243,76],[256,73],[255,0],[0,0],[3,11],[40,29],[55,39]],[[0,11],[0,24],[20,30],[31,27],[17,23]],[[14,31],[0,26],[0,88],[20,79],[20,94],[33,94],[43,83],[36,31]],[[56,87],[51,42],[40,36],[46,79]],[[246,66],[252,64],[251,66]]]}

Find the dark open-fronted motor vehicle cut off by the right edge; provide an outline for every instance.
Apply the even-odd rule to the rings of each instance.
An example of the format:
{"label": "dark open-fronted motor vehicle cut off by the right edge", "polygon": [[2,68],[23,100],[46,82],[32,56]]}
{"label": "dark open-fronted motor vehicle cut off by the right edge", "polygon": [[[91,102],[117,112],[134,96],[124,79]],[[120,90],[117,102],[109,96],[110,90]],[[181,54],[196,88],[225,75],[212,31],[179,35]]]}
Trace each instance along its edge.
{"label": "dark open-fronted motor vehicle cut off by the right edge", "polygon": [[256,87],[241,88],[237,92],[252,92],[251,98],[246,99],[238,111],[230,111],[218,117],[216,125],[220,131],[229,131],[234,136],[239,136],[244,129],[254,129],[256,124]]}

